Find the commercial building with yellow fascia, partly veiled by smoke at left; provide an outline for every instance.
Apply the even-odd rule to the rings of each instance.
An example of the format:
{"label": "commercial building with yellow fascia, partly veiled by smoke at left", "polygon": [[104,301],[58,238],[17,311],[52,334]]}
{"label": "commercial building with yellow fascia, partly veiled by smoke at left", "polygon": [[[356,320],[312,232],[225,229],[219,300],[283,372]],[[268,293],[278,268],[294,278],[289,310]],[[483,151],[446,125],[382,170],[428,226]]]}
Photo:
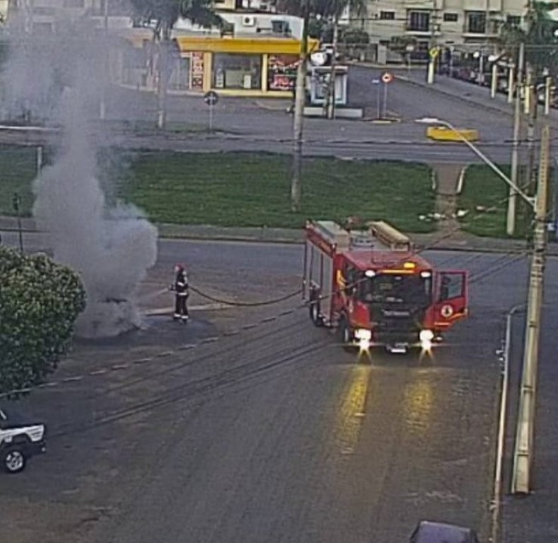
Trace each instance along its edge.
{"label": "commercial building with yellow fascia, partly veiled by smoke at left", "polygon": [[[0,0],[1,2],[2,0]],[[118,13],[110,0],[17,0],[32,35],[56,33],[69,18],[105,25],[105,1],[110,42],[110,75],[114,83],[144,91],[158,88],[160,47],[153,25],[138,25]],[[117,7],[117,6],[116,6]],[[222,29],[205,29],[179,19],[172,30],[170,93],[206,93],[250,97],[291,96],[302,40],[301,18],[274,13],[261,0],[215,0],[225,22]],[[309,40],[309,51],[318,42]]]}

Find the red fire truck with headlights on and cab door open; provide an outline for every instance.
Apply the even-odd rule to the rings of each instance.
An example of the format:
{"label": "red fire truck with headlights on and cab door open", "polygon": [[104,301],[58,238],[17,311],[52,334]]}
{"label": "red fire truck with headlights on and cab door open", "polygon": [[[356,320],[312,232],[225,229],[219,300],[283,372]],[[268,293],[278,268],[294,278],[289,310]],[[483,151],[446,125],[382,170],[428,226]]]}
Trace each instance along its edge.
{"label": "red fire truck with headlights on and cab door open", "polygon": [[467,272],[434,269],[384,221],[368,226],[307,223],[303,296],[312,322],[337,328],[345,346],[431,349],[467,316]]}

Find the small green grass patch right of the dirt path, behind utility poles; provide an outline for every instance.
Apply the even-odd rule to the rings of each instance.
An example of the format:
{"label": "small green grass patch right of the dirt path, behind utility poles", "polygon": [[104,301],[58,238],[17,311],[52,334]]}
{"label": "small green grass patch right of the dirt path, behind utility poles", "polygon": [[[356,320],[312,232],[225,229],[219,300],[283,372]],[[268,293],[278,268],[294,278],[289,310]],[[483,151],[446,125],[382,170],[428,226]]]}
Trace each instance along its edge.
{"label": "small green grass patch right of the dirt path, behind utility poles", "polygon": [[[510,175],[509,166],[501,170]],[[520,179],[522,175],[520,172]],[[462,219],[463,230],[480,236],[505,238],[508,185],[494,171],[485,165],[470,165],[465,173],[463,192],[458,199],[458,208],[469,211]],[[523,238],[526,234],[526,218],[523,202],[518,197],[518,222],[516,235]],[[486,211],[475,211],[477,208]]]}

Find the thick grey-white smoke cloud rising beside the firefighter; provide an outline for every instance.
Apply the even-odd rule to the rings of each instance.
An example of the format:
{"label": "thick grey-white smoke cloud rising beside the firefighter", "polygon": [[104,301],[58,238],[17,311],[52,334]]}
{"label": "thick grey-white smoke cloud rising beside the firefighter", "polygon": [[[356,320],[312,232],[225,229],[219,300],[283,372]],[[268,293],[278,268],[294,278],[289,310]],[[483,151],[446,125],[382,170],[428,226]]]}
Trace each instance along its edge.
{"label": "thick grey-white smoke cloud rising beside the firefighter", "polygon": [[30,110],[62,129],[54,162],[34,182],[32,212],[54,259],[83,279],[87,307],[78,335],[112,337],[141,326],[137,291],[157,259],[158,231],[135,206],[107,206],[98,180],[97,148],[88,133],[95,108],[98,115],[102,44],[62,33],[51,45],[48,54],[35,48],[40,71],[34,71],[37,57],[22,49],[8,58],[6,74],[16,77],[7,86],[7,109]]}

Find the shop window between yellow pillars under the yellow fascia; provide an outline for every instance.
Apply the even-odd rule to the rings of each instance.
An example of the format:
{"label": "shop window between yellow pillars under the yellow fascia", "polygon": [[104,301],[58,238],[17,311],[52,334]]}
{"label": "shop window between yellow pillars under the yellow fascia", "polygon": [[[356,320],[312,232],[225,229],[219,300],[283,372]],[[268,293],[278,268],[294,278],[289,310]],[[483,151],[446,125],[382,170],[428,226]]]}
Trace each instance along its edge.
{"label": "shop window between yellow pillars under the yellow fascia", "polygon": [[261,54],[213,55],[213,88],[261,88]]}

